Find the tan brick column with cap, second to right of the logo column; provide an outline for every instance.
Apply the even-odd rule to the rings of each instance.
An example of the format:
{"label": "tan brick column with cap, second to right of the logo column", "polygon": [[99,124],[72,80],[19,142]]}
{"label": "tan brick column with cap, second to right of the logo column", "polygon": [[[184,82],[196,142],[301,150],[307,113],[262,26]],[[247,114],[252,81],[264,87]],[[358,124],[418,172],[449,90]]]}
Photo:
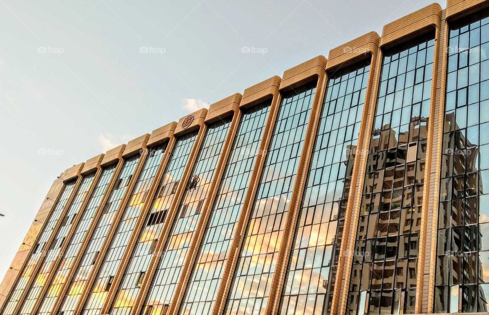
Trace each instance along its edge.
{"label": "tan brick column with cap, second to right of the logo column", "polygon": [[263,131],[263,138],[260,142],[255,167],[250,178],[250,184],[248,186],[246,196],[244,197],[241,214],[235,227],[236,233],[229,248],[229,256],[226,261],[226,266],[224,268],[221,285],[217,289],[218,294],[216,295],[214,309],[212,310],[213,314],[222,313],[226,304],[226,298],[230,289],[231,280],[234,274],[234,268],[236,267],[239,249],[241,248],[241,244],[244,238],[244,232],[246,231],[248,218],[250,217],[253,200],[255,198],[258,183],[261,177],[261,172],[263,169],[263,164],[265,162],[265,152],[268,149],[268,145],[271,139],[271,133],[274,129],[275,120],[277,118],[278,108],[280,104],[280,82],[281,78],[278,76],[274,76],[253,85],[252,87],[244,90],[241,103],[239,104],[240,108],[247,108],[259,104],[260,102],[263,102],[267,99],[271,99],[270,111],[268,113],[265,129]]}

